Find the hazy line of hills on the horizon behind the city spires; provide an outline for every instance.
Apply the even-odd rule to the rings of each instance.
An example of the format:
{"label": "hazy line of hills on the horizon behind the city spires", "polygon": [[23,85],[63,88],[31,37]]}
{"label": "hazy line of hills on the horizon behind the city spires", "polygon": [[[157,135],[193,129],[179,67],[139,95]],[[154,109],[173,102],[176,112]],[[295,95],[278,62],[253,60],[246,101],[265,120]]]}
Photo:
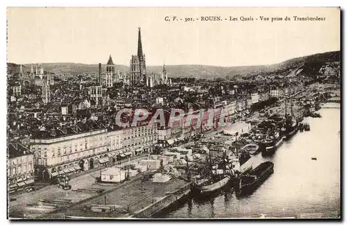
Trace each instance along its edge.
{"label": "hazy line of hills on the horizon behind the city spires", "polygon": [[[314,55],[307,55],[300,58],[293,58],[286,60],[280,64],[259,65],[259,66],[243,66],[243,67],[217,67],[207,65],[166,65],[169,77],[194,77],[194,78],[233,78],[234,76],[266,74],[280,71],[285,71],[285,76],[293,71],[301,71],[301,73],[310,74],[318,73],[319,69],[327,62],[340,62],[340,51],[333,51],[327,53],[317,53]],[[8,63],[8,74],[18,73],[19,64]],[[56,73],[57,75],[67,73],[71,75],[78,75],[83,73],[98,73],[98,64],[78,64],[78,63],[46,63],[43,64],[45,71]],[[105,71],[105,64],[102,65]],[[31,64],[24,64],[23,70],[30,71]],[[126,71],[128,73],[129,67],[126,65],[115,65],[116,71]],[[161,73],[162,66],[148,66],[148,73]]]}

